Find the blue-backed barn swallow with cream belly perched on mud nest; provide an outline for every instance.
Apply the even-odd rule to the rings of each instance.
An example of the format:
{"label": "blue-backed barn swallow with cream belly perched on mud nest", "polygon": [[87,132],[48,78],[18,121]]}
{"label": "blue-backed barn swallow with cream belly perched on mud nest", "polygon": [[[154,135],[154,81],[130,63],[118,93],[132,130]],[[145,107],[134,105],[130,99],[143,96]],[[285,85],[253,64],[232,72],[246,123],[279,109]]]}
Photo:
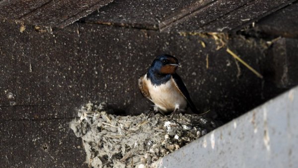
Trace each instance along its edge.
{"label": "blue-backed barn swallow with cream belly perched on mud nest", "polygon": [[198,113],[180,76],[178,59],[170,55],[157,56],[146,74],[139,79],[144,97],[154,103],[154,112],[163,114],[185,112],[187,107]]}

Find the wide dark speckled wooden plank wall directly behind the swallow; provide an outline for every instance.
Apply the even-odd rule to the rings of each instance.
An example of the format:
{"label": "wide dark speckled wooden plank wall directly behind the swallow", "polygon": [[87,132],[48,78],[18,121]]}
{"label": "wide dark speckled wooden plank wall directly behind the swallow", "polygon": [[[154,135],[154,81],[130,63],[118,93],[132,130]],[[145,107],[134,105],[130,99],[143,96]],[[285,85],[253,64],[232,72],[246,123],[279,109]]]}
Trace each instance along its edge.
{"label": "wide dark speckled wooden plank wall directly behind the swallow", "polygon": [[[1,106],[6,108],[2,119],[74,117],[75,109],[89,100],[107,101],[126,114],[147,111],[150,103],[137,81],[163,53],[180,60],[178,73],[202,112],[211,110],[229,119],[265,101],[262,80],[246,67],[238,68],[226,47],[217,50],[222,44],[210,35],[81,23],[53,32],[26,26],[21,33],[20,27],[3,23],[2,28],[13,31],[0,35],[5,39],[0,42],[1,59],[7,62],[1,65],[6,76],[0,88]],[[230,38],[230,48],[259,70],[264,49],[253,40]]]}

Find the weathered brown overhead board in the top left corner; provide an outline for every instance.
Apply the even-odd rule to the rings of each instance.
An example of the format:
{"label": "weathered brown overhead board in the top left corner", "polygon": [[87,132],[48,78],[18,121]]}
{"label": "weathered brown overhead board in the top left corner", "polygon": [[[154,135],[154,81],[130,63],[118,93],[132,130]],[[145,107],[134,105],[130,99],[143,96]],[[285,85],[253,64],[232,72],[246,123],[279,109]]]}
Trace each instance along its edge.
{"label": "weathered brown overhead board in the top left corner", "polygon": [[38,26],[65,27],[112,0],[2,0],[0,17]]}

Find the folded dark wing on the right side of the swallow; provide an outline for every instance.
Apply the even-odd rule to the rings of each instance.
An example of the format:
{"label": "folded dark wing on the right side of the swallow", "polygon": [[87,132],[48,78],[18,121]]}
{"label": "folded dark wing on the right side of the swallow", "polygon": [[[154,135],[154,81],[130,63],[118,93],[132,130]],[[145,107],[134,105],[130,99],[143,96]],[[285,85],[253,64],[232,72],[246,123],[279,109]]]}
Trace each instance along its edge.
{"label": "folded dark wing on the right side of the swallow", "polygon": [[177,86],[177,88],[180,90],[180,92],[182,93],[182,95],[185,97],[185,99],[187,100],[187,104],[189,106],[189,108],[191,109],[192,112],[199,114],[196,106],[194,105],[194,103],[192,102],[189,93],[186,89],[186,86],[184,85],[182,79],[180,78],[180,76],[177,73],[172,74],[172,78],[174,79],[174,82]]}

